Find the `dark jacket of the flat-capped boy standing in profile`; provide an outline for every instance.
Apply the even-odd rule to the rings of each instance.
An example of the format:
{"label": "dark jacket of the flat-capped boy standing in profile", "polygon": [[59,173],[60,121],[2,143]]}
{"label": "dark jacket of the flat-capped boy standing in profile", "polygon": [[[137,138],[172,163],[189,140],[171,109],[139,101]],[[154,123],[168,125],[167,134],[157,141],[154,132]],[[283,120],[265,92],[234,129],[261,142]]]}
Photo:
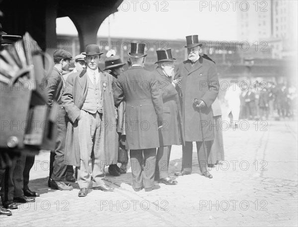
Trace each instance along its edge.
{"label": "dark jacket of the flat-capped boy standing in profile", "polygon": [[53,102],[61,104],[61,95],[63,92],[63,78],[60,75],[56,67],[46,77],[47,89],[48,89],[48,104],[53,105]]}

